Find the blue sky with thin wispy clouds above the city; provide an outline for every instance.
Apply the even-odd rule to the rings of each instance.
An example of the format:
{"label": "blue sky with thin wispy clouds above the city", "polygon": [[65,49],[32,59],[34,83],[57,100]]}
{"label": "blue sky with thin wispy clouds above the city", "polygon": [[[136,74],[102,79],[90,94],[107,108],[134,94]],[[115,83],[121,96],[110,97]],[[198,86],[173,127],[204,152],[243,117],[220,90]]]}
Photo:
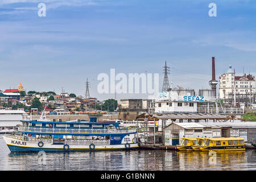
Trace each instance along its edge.
{"label": "blue sky with thin wispy clouds above the city", "polygon": [[[46,17],[38,4],[46,3]],[[217,17],[210,17],[209,3]],[[238,75],[256,75],[256,1],[0,0],[0,89],[22,82],[29,90],[76,93],[100,100],[97,76],[160,73],[171,67],[173,87],[209,88],[229,64]],[[119,94],[121,98],[145,94]]]}

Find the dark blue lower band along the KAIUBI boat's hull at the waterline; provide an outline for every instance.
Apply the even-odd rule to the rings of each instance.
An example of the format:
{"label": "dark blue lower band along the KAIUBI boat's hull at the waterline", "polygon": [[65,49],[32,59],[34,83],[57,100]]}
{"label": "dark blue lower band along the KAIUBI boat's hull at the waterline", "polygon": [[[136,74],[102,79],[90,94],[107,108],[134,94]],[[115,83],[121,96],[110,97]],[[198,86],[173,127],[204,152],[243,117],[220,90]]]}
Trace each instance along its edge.
{"label": "dark blue lower band along the KAIUBI boat's hull at the waterline", "polygon": [[125,147],[123,148],[106,148],[106,149],[94,149],[91,150],[89,148],[69,148],[69,150],[64,150],[64,148],[32,148],[32,147],[18,147],[18,146],[11,146],[7,145],[10,149],[11,152],[38,152],[38,151],[45,151],[45,152],[68,152],[68,151],[111,151],[111,150],[129,150],[129,149],[134,149],[134,148],[129,148],[126,149]]}

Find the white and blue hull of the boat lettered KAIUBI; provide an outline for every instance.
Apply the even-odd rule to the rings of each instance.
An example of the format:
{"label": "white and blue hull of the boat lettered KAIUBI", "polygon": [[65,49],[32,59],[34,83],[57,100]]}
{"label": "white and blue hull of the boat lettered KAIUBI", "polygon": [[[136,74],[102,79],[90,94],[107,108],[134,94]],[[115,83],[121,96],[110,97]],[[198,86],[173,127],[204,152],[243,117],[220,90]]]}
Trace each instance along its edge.
{"label": "white and blue hull of the boat lettered KAIUBI", "polygon": [[57,151],[108,151],[108,150],[130,150],[138,148],[138,143],[129,143],[129,147],[126,144],[68,144],[65,148],[64,144],[52,144],[44,143],[42,147],[39,147],[38,142],[30,142],[19,139],[13,139],[3,137],[9,150],[11,152],[57,152]]}

